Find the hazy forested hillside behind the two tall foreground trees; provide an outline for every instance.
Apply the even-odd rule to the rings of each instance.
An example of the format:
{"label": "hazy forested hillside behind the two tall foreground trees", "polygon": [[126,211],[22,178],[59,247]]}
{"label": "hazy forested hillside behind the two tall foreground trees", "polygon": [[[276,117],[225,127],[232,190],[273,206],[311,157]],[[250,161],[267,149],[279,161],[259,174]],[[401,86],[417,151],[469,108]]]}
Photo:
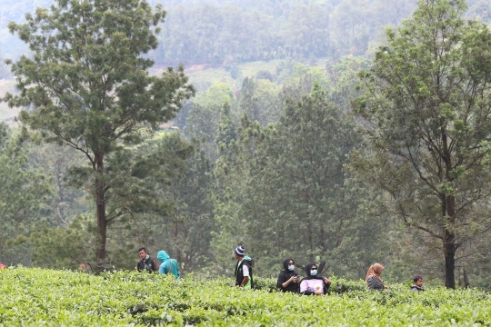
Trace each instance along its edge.
{"label": "hazy forested hillside behind the two tall foreground trees", "polygon": [[[2,59],[33,55],[7,25],[49,5],[0,1]],[[386,191],[352,163],[366,148],[352,109],[363,94],[358,74],[386,45],[385,29],[411,16],[416,1],[162,5],[158,45],[145,54],[155,62],[151,73],[184,64],[196,93],[156,134],[110,158],[111,201],[132,204],[108,225],[107,268],[134,269],[136,250],[146,246],[153,256],[165,250],[185,273],[231,276],[233,249],[244,244],[262,276],[275,276],[293,257],[354,279],[378,262],[389,282],[417,273],[445,282],[441,243],[386,208]],[[466,19],[491,20],[491,1],[467,5]],[[2,94],[16,92],[5,64],[0,78]],[[21,128],[14,117],[24,108],[0,109],[0,262],[95,266],[99,235],[84,154]],[[139,178],[139,160],[154,154],[163,155],[155,175]],[[488,199],[479,205],[486,214]],[[473,235],[458,247],[456,281],[491,289],[489,233]]]}

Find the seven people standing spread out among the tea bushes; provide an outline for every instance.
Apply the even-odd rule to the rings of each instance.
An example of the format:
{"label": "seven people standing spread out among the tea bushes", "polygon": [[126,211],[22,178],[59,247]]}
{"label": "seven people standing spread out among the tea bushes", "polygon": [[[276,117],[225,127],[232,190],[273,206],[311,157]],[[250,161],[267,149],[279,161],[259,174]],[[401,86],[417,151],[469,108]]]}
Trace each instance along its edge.
{"label": "seven people standing spread out among the tea bushes", "polygon": [[[138,255],[141,260],[137,263],[138,272],[158,272],[159,274],[172,273],[175,278],[179,278],[180,272],[177,261],[171,259],[165,251],[157,253],[157,259],[161,264],[158,265],[155,259],[152,259],[145,247],[138,249]],[[253,261],[246,256],[246,249],[240,245],[235,248],[235,286],[245,289],[254,288],[253,279]],[[301,278],[300,274],[295,271],[295,261],[292,258],[285,259],[283,262],[284,270],[279,273],[276,282],[277,287],[282,292],[295,292],[304,295],[325,295],[329,292],[331,280],[327,277],[318,275],[318,267],[316,263],[306,264],[306,277]],[[380,263],[375,263],[370,266],[366,272],[366,286],[369,290],[386,290],[387,286],[382,280],[381,274],[384,271],[384,266]],[[425,291],[423,288],[423,277],[416,275],[413,279],[414,284],[411,286],[413,291]]]}

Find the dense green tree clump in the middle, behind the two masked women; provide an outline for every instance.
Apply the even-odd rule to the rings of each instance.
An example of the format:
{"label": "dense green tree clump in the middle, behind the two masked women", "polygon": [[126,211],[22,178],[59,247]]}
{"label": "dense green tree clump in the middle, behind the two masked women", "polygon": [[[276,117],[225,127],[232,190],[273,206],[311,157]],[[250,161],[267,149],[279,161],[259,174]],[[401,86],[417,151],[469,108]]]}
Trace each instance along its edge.
{"label": "dense green tree clump in the middle, behind the two masked women", "polygon": [[240,243],[266,275],[280,268],[278,257],[303,264],[320,257],[336,273],[363,275],[370,263],[360,263],[361,253],[372,246],[359,231],[369,225],[362,207],[369,195],[346,171],[357,145],[351,118],[314,84],[299,102],[286,101],[279,123],[261,129],[244,117],[237,136],[217,161],[224,186],[216,195],[215,260]]}

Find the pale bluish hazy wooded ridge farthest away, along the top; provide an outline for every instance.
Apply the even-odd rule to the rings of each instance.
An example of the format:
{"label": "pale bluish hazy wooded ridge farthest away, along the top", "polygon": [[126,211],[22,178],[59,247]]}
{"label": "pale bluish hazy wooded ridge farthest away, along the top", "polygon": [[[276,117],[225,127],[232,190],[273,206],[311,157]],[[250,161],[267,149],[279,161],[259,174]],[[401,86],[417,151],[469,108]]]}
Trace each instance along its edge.
{"label": "pale bluish hazy wooded ridge farthest away, along the top", "polygon": [[[0,4],[0,55],[18,57],[27,50],[10,35],[8,23],[24,21],[35,6],[51,3]],[[467,3],[468,17],[490,19],[488,1]],[[155,62],[189,65],[370,54],[382,28],[411,15],[416,0],[171,0],[163,5],[167,16],[152,54]]]}

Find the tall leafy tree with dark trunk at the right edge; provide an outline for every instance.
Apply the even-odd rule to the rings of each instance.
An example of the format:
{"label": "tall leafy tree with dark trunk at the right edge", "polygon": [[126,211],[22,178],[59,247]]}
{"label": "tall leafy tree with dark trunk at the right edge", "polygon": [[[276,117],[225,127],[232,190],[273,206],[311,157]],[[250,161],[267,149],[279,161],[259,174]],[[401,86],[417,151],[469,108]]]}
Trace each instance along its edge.
{"label": "tall leafy tree with dark trunk at the right edge", "polygon": [[462,18],[463,0],[418,5],[411,19],[386,31],[388,45],[360,74],[365,94],[355,107],[368,146],[355,165],[386,191],[390,215],[443,245],[446,285],[455,287],[456,258],[471,256],[457,252],[490,223],[483,144],[491,130],[491,31]]}

